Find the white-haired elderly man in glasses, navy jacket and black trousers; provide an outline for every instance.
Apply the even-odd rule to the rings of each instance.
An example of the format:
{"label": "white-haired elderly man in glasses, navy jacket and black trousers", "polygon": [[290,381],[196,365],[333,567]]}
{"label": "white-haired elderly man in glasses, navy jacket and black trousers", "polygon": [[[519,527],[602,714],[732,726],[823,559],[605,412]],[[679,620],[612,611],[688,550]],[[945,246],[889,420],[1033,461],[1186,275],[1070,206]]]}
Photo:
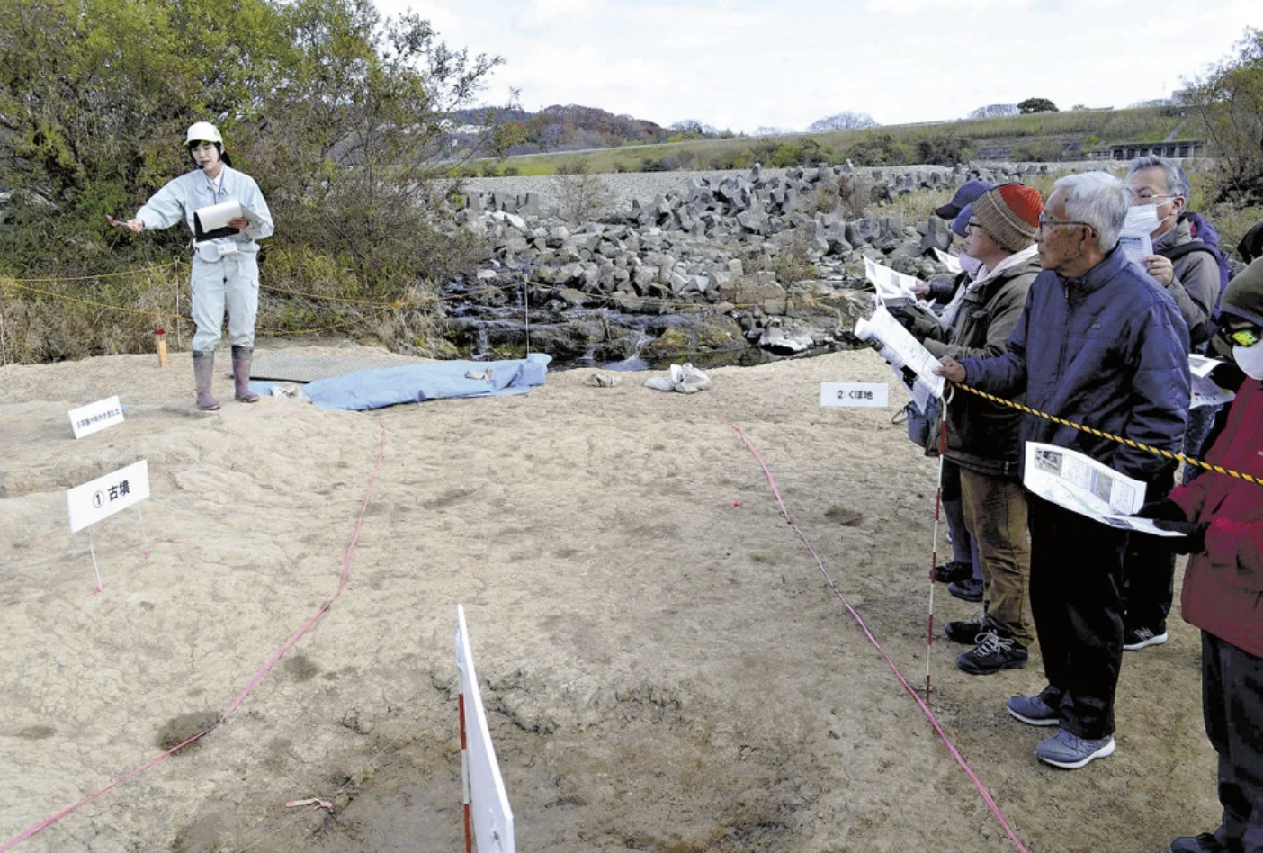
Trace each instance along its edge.
{"label": "white-haired elderly man in glasses, navy jacket and black trousers", "polygon": [[[1043,272],[1004,355],[942,359],[938,372],[1000,397],[1115,436],[1178,451],[1188,413],[1188,329],[1175,301],[1118,248],[1128,201],[1118,178],[1061,178],[1039,217]],[[1137,480],[1161,456],[1022,416],[1021,440],[1091,456]],[[1033,494],[1029,498],[1031,610],[1048,686],[1013,696],[1009,713],[1056,725],[1036,748],[1075,770],[1114,752],[1114,691],[1123,660],[1120,584],[1127,532]]]}

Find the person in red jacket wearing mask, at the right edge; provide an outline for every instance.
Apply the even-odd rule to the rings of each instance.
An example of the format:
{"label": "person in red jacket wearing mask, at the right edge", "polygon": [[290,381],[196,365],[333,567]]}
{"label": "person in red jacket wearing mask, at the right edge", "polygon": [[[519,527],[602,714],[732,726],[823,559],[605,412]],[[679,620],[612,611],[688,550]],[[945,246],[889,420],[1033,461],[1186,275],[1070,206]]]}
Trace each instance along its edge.
{"label": "person in red jacket wearing mask, at the right edge", "polygon": [[[1263,259],[1229,283],[1220,335],[1245,380],[1206,461],[1263,480]],[[1206,735],[1219,753],[1223,824],[1172,853],[1263,853],[1263,485],[1204,471],[1138,513],[1191,554],[1183,618],[1201,628]]]}

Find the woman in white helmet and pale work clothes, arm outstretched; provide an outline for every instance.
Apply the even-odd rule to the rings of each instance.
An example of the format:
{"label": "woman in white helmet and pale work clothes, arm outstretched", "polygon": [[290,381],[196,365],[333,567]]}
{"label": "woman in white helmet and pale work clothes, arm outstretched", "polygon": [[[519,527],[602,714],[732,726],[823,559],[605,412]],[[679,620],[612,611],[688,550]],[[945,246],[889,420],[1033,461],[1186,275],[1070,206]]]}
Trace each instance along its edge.
{"label": "woman in white helmet and pale work clothes, arm outstretched", "polygon": [[[197,167],[154,193],[128,227],[139,234],[145,229],[167,229],[183,220],[193,233],[193,377],[197,380],[197,407],[205,412],[220,407],[211,396],[215,375],[215,348],[224,326],[224,308],[229,312],[229,336],[232,340],[232,377],[235,397],[254,403],[250,392],[250,356],[254,354],[254,320],[259,311],[259,244],[272,234],[272,214],[259,192],[259,185],[248,174],[232,168],[224,153],[224,138],[215,125],[198,121],[188,129],[184,142]],[[203,207],[226,201],[240,202],[254,215],[230,219],[229,236],[203,239],[193,222],[193,214]]]}

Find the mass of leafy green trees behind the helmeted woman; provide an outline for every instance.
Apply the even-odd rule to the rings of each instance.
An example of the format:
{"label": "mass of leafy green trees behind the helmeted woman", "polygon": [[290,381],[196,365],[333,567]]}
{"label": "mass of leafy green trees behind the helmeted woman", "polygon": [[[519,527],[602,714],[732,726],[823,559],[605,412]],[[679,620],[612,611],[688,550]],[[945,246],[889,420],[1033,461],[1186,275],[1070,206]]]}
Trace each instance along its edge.
{"label": "mass of leafy green trees behind the helmeted woman", "polygon": [[370,0],[5,0],[0,257],[14,272],[169,258],[181,229],[135,240],[105,214],[187,171],[184,129],[211,120],[268,195],[269,246],[405,278],[424,267],[446,116],[499,62]]}

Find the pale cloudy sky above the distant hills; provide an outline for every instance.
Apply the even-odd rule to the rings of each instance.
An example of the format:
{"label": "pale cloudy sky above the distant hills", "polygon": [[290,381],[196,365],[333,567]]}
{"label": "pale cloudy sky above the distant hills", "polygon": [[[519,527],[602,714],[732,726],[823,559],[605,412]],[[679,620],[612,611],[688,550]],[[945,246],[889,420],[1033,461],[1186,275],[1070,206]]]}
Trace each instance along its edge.
{"label": "pale cloudy sky above the distant hills", "polygon": [[[959,119],[1047,97],[1167,97],[1233,51],[1259,0],[376,0],[451,47],[504,57],[482,92],[669,125],[805,129],[845,110],[880,124]],[[1253,15],[1250,13],[1254,13]]]}

